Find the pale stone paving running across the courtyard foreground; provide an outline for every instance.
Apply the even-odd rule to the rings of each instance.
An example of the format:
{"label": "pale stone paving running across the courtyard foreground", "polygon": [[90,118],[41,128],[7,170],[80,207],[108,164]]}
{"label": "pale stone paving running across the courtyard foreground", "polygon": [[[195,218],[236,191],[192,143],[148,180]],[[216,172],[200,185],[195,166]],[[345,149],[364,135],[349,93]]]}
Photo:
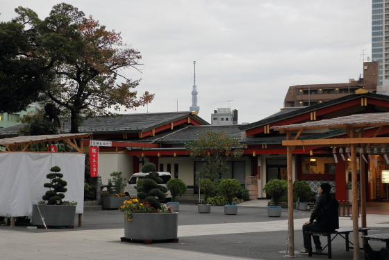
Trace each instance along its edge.
{"label": "pale stone paving running across the courtyard foreground", "polygon": [[[267,201],[244,202],[240,206],[265,206]],[[308,214],[307,214],[308,215]],[[308,218],[308,216],[307,216]],[[277,220],[276,218],[265,218],[265,221],[258,222],[238,222],[220,223],[204,225],[179,225],[180,241],[185,238],[208,238],[215,235],[233,234],[277,234],[276,231],[285,231],[288,227],[288,220]],[[368,227],[376,229],[388,229],[389,218],[382,215],[368,215]],[[301,226],[306,222],[306,218],[294,220],[297,234]],[[351,227],[350,218],[340,218],[341,227]],[[143,245],[141,243],[120,242],[119,238],[124,236],[124,229],[74,229],[68,231],[48,232],[27,232],[19,229],[0,230],[0,259],[253,259],[247,257],[230,257],[226,254],[214,254],[212,252],[198,252],[196,250],[181,250],[159,246],[157,244]],[[270,233],[266,233],[270,232]],[[388,233],[388,231],[385,231]],[[281,233],[280,233],[281,234]],[[285,237],[278,240],[285,241]],[[274,241],[276,243],[276,241]],[[301,241],[299,241],[301,242]],[[236,242],[238,243],[238,242]],[[174,243],[171,243],[174,244]],[[175,243],[177,244],[177,243]],[[296,247],[296,246],[295,246]],[[285,248],[283,246],[283,248]],[[295,248],[300,250],[301,248]],[[347,252],[347,257],[341,259],[352,259],[352,252]],[[266,256],[263,259],[280,259],[279,252],[274,252],[274,256]],[[297,255],[297,257],[308,257]],[[260,254],[258,258],[262,259]],[[309,259],[326,259],[326,257],[312,257]],[[337,259],[333,253],[333,259]],[[361,258],[363,259],[363,258]]]}

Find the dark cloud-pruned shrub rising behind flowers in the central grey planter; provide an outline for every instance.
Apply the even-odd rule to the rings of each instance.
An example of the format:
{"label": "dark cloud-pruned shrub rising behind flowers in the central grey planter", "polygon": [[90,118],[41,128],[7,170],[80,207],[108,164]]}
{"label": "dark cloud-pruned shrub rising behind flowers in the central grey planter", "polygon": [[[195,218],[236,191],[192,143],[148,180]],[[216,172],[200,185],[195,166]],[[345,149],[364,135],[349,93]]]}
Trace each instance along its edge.
{"label": "dark cloud-pruned shrub rising behind flowers in the central grey planter", "polygon": [[154,209],[160,209],[158,200],[165,201],[165,194],[167,193],[167,188],[160,184],[163,184],[163,180],[159,177],[158,172],[150,172],[149,175],[143,178],[142,184],[137,185],[138,200],[147,202]]}

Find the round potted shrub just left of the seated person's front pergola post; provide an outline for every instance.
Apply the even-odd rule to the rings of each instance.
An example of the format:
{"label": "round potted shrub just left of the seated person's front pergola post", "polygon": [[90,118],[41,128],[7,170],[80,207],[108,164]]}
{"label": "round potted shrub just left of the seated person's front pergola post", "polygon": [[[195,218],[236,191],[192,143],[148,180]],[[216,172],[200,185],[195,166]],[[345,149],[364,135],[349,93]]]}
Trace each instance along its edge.
{"label": "round potted shrub just left of the seated person's front pergola post", "polygon": [[280,217],[281,216],[281,206],[279,206],[279,202],[281,197],[288,190],[288,181],[280,180],[280,179],[272,179],[267,182],[263,187],[263,192],[272,196],[272,202],[274,206],[267,206],[267,216],[270,217]]}

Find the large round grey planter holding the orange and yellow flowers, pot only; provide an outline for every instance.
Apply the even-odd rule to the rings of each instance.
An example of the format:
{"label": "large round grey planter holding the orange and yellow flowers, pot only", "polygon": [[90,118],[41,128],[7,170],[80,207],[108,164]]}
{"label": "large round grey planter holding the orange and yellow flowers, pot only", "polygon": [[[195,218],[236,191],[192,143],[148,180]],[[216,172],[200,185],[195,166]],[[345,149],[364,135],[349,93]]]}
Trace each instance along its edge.
{"label": "large round grey planter holding the orange and yellow flowers, pot only", "polygon": [[177,238],[179,213],[132,213],[124,219],[124,238],[133,240],[167,240]]}

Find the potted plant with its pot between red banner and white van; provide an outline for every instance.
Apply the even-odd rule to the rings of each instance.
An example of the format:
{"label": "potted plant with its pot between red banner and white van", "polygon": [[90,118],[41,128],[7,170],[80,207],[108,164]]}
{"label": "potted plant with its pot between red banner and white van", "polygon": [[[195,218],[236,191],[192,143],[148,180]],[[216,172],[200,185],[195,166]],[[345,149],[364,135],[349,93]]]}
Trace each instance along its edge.
{"label": "potted plant with its pot between red banner and white van", "polygon": [[108,179],[108,190],[105,193],[101,193],[103,198],[103,209],[119,209],[122,206],[124,200],[127,199],[126,195],[122,193],[122,190],[126,184],[122,177],[122,172],[112,172],[110,174],[112,179]]}

